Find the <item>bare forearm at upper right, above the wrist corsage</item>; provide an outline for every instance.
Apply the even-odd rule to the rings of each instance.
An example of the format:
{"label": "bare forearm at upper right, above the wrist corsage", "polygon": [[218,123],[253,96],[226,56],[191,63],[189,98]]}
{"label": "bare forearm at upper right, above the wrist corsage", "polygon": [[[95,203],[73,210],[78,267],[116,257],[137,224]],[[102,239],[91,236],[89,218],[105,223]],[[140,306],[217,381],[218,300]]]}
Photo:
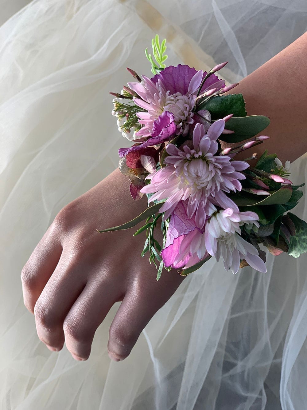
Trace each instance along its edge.
{"label": "bare forearm at upper right, above the wrist corsage", "polygon": [[[282,162],[293,162],[307,152],[306,55],[307,33],[226,93],[242,93],[248,115],[271,118],[270,125],[260,133],[271,138],[251,148],[258,156],[267,149],[269,153],[277,153]],[[248,155],[243,152],[240,159]]]}

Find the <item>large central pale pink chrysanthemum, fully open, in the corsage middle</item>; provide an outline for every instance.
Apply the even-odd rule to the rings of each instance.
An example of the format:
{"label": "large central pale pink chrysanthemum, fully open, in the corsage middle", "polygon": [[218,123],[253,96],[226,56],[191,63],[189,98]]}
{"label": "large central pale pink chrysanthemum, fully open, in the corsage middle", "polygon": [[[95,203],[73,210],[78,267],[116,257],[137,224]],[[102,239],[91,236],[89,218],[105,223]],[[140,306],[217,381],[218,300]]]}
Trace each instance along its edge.
{"label": "large central pale pink chrysanthemum, fully open, in the corsage middle", "polygon": [[181,200],[189,200],[187,214],[189,218],[195,215],[198,228],[203,228],[206,215],[215,210],[214,205],[224,209],[231,207],[237,212],[237,205],[226,196],[225,192],[240,191],[239,180],[245,179],[244,174],[238,172],[248,168],[244,161],[232,161],[228,155],[214,155],[217,153],[217,139],[225,126],[223,119],[215,121],[208,128],[207,133],[202,124],[196,124],[191,141],[182,148],[168,144],[169,154],[164,160],[165,167],[146,177],[149,185],[141,192],[154,193],[150,200],[167,198],[159,212],[165,212],[167,219]]}

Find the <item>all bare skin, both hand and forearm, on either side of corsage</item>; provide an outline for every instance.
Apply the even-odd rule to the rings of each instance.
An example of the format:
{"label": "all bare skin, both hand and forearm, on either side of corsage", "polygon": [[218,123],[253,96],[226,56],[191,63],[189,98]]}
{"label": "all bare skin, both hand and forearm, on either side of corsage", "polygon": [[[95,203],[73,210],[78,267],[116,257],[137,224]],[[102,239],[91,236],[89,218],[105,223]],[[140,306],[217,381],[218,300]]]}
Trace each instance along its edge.
{"label": "all bare skin, both hand and forearm, on either side of corsage", "polygon": [[[307,73],[298,58],[304,55],[307,33],[229,92],[243,93],[248,115],[271,117],[263,132],[271,136],[265,148],[277,151],[282,162],[307,151],[307,117],[298,114],[307,106]],[[260,145],[248,152],[263,150]],[[146,197],[133,201],[128,187],[117,169],[66,205],[21,272],[25,306],[34,313],[38,337],[50,350],[61,350],[65,342],[76,360],[86,360],[98,326],[112,305],[122,301],[111,323],[108,350],[113,360],[123,360],[184,280],[172,270],[156,281],[156,268],[140,257],[144,233],[133,238],[132,230],[97,232],[146,208]]]}

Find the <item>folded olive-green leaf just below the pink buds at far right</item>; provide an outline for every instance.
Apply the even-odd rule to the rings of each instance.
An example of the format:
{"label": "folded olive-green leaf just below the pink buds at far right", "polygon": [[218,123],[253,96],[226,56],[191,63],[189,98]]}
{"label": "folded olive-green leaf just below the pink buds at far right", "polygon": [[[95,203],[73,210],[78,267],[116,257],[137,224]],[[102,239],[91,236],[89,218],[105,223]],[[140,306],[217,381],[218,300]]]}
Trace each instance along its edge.
{"label": "folded olive-green leaf just below the pink buds at far right", "polygon": [[[259,196],[252,194],[234,194],[230,198],[238,206],[251,206],[251,205],[275,205],[275,204],[284,204],[287,202],[292,195],[291,186],[284,186],[278,189],[278,191],[273,192],[270,196],[266,196],[264,199],[259,200]],[[258,198],[257,198],[258,197]]]}

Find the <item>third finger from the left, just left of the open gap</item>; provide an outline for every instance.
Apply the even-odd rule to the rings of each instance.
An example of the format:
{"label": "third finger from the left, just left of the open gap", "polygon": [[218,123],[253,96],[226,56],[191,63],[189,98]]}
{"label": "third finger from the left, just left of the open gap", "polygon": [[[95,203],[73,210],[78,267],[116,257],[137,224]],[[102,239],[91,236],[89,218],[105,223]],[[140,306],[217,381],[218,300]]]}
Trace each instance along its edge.
{"label": "third finger from the left, just left of the open gap", "polygon": [[95,332],[124,292],[108,279],[90,280],[64,321],[65,344],[76,360],[88,359]]}

